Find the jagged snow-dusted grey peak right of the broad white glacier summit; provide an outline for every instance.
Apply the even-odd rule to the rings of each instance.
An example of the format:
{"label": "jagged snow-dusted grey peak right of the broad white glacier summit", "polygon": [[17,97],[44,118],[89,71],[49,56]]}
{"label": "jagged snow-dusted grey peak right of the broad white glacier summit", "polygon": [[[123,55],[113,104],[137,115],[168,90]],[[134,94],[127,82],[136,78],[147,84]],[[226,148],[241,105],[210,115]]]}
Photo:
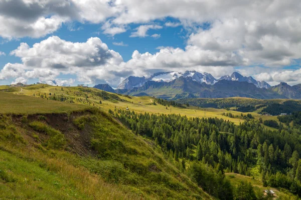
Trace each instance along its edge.
{"label": "jagged snow-dusted grey peak right of the broad white glacier summit", "polygon": [[265,82],[265,81],[259,81],[259,80],[255,80],[252,76],[243,76],[241,75],[240,73],[238,72],[233,72],[231,74],[231,76],[229,75],[224,75],[222,77],[219,78],[219,80],[236,80],[236,81],[239,81],[239,82],[250,82],[250,83],[253,83],[254,85],[256,85],[256,87],[259,87],[259,88],[269,88],[270,85]]}

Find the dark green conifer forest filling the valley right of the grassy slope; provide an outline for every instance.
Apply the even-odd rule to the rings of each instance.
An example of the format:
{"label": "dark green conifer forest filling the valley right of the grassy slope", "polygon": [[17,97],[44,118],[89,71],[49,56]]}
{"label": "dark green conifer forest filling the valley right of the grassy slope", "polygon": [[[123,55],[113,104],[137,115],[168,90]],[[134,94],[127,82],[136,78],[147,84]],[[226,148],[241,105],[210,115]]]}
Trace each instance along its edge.
{"label": "dark green conifer forest filling the valley right of the grassy slope", "polygon": [[213,196],[263,198],[247,182],[233,187],[225,172],[257,176],[264,186],[285,188],[301,195],[299,125],[281,125],[278,130],[270,130],[255,119],[234,125],[219,118],[143,114],[121,109],[110,112],[136,134],[153,139],[167,157]]}

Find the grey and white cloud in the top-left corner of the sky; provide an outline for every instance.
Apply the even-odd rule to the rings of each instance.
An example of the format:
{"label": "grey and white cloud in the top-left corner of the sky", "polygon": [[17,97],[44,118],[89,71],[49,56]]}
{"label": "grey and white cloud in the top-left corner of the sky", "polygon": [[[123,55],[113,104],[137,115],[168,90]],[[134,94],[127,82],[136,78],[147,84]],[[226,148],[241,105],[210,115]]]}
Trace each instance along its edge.
{"label": "grey and white cloud in the top-left corner of the sky", "polygon": [[41,37],[64,22],[100,23],[118,10],[109,0],[0,0],[0,36]]}

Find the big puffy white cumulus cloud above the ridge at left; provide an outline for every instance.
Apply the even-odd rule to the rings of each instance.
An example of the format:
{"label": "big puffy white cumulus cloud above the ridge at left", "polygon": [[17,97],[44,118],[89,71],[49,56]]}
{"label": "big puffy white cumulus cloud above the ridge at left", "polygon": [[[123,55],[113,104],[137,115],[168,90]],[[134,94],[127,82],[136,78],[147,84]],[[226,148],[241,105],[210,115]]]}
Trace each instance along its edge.
{"label": "big puffy white cumulus cloud above the ridge at left", "polygon": [[0,79],[39,78],[46,83],[70,84],[73,80],[63,81],[57,76],[75,74],[78,80],[92,83],[109,81],[116,78],[114,73],[122,71],[121,55],[108,49],[98,37],[86,42],[71,42],[51,36],[32,47],[21,43],[11,54],[20,57],[22,63],[7,63],[0,71]]}

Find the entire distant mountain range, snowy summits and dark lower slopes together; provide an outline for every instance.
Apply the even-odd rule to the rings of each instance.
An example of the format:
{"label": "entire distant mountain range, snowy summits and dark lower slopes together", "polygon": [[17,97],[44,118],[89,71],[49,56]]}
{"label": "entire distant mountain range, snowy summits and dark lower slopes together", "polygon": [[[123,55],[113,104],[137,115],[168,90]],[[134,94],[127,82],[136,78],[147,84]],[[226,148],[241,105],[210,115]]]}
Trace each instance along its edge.
{"label": "entire distant mountain range, snowy summits and dark lower slopes together", "polygon": [[258,81],[238,72],[222,76],[219,79],[210,73],[196,70],[158,72],[147,78],[129,76],[116,89],[108,84],[98,84],[94,87],[109,92],[136,96],[149,95],[165,99],[236,96],[260,99],[301,99],[301,84],[290,86],[281,82],[271,86],[265,81]]}

